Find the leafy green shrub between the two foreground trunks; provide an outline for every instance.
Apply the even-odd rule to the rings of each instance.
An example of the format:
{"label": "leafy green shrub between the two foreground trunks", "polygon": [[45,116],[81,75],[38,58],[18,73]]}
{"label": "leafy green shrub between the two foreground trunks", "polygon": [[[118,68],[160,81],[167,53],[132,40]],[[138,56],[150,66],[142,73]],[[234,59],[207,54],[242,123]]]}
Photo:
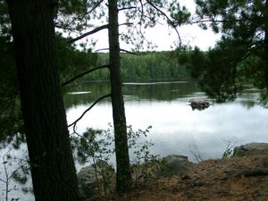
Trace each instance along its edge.
{"label": "leafy green shrub between the two foreground trunks", "polygon": [[[114,180],[113,166],[109,165],[111,163],[110,157],[114,152],[111,147],[113,144],[111,129],[111,125],[105,131],[88,129],[82,136],[71,137],[71,145],[76,153],[78,162],[81,164],[92,163],[94,166],[98,196],[101,196],[102,188],[105,194],[108,190],[111,190],[112,181]],[[99,182],[99,177],[102,178],[102,182]],[[92,187],[82,188],[85,196],[92,197],[96,195]]]}

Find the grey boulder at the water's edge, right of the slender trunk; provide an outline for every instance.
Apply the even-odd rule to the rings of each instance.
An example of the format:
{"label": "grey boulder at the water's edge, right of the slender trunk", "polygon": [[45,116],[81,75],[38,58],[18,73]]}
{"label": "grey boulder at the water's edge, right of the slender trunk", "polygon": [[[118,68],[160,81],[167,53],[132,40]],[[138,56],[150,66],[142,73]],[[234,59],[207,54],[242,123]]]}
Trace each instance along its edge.
{"label": "grey boulder at the water's edge, right of the slender trunk", "polygon": [[163,168],[159,176],[169,177],[178,172],[188,172],[190,162],[185,155],[167,155],[163,158]]}

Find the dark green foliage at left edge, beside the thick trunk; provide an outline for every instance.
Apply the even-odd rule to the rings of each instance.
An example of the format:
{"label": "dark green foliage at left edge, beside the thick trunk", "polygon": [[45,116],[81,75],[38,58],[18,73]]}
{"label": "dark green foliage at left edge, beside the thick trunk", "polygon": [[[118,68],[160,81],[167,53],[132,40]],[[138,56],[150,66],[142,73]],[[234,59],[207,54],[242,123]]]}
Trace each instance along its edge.
{"label": "dark green foliage at left edge, beside the thick trunk", "polygon": [[13,45],[4,35],[0,36],[0,66],[0,142],[3,142],[5,139],[11,141],[22,131],[23,124]]}

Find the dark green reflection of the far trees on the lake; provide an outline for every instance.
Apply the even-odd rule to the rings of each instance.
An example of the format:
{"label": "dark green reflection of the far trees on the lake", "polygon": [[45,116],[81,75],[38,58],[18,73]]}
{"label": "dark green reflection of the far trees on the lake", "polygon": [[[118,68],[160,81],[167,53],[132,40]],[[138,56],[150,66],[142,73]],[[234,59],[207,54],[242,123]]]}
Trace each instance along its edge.
{"label": "dark green reflection of the far trees on the lake", "polygon": [[[204,93],[200,94],[200,89],[197,88],[197,84],[193,80],[149,83],[124,82],[122,89],[127,100],[136,98],[138,100],[171,101],[179,97],[193,96],[195,93],[197,93],[196,96],[204,96]],[[110,83],[107,81],[67,86],[64,88],[64,92],[64,103],[68,109],[73,105],[87,105],[99,97],[109,94]]]}

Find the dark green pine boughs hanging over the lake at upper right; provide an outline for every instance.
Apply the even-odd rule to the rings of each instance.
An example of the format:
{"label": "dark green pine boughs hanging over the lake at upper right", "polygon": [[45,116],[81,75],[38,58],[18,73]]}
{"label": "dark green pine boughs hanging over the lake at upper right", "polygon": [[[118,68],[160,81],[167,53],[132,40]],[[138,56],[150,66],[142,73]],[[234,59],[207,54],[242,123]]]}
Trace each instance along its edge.
{"label": "dark green pine boughs hanging over the lake at upper right", "polygon": [[191,63],[193,74],[205,92],[224,102],[234,100],[245,84],[263,89],[266,82],[267,88],[268,78],[264,75],[267,71],[267,29],[264,29],[267,2],[196,0],[196,3],[199,25],[222,33],[221,40],[205,54],[198,70],[193,66],[200,64]]}

